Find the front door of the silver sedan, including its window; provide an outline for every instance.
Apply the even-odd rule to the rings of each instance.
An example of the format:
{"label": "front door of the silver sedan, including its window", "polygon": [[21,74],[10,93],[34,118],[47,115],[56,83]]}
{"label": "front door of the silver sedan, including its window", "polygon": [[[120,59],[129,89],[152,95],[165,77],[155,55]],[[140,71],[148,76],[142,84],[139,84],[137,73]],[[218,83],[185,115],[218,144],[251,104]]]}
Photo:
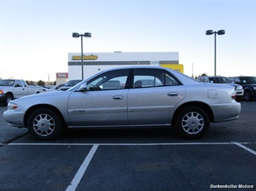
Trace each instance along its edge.
{"label": "front door of the silver sedan, including its window", "polygon": [[103,73],[87,83],[87,91],[71,93],[69,116],[73,126],[127,126],[128,73],[129,70]]}

